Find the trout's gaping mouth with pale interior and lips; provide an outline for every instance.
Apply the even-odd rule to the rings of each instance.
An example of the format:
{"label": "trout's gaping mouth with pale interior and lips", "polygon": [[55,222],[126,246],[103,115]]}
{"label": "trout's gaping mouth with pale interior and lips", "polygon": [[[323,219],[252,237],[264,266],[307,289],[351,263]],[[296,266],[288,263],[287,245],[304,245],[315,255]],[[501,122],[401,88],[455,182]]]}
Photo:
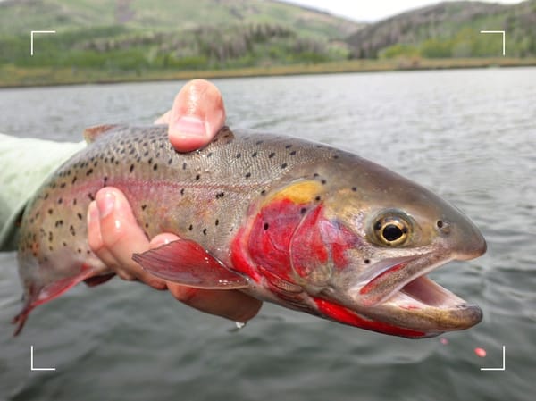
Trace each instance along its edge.
{"label": "trout's gaping mouth with pale interior and lips", "polygon": [[376,263],[362,281],[358,302],[375,320],[429,335],[472,327],[481,322],[482,310],[426,276],[451,260],[425,254]]}

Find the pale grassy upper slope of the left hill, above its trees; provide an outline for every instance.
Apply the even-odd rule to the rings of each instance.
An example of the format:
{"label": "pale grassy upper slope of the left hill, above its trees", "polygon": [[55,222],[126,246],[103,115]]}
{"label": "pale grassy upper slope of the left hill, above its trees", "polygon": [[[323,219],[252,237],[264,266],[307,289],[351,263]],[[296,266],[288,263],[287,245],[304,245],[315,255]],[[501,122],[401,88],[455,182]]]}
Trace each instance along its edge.
{"label": "pale grassy upper slope of the left hill, above its trees", "polygon": [[58,32],[121,25],[180,31],[241,23],[280,25],[313,38],[345,38],[353,21],[292,4],[263,0],[7,0],[0,3],[0,33]]}

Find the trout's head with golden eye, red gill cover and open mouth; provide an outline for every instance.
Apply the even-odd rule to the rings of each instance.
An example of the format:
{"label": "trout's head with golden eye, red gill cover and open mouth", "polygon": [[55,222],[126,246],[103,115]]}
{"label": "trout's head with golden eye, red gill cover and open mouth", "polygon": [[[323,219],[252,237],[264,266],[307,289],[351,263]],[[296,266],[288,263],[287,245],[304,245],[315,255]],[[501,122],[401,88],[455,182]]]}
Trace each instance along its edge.
{"label": "trout's head with golden eye, red gill cover and open mouth", "polygon": [[480,322],[477,305],[426,274],[482,255],[481,232],[430,190],[370,162],[357,167],[327,191],[292,241],[294,271],[318,312],[409,338]]}

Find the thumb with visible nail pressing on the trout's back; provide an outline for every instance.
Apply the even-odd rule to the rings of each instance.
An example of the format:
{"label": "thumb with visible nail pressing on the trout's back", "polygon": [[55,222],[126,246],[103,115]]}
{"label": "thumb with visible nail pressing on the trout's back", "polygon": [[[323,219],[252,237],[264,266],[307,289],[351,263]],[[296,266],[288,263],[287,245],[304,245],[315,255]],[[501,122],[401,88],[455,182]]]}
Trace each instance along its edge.
{"label": "thumb with visible nail pressing on the trout's back", "polygon": [[190,80],[173,102],[169,138],[178,151],[189,152],[207,145],[224,122],[225,107],[218,88],[205,79]]}

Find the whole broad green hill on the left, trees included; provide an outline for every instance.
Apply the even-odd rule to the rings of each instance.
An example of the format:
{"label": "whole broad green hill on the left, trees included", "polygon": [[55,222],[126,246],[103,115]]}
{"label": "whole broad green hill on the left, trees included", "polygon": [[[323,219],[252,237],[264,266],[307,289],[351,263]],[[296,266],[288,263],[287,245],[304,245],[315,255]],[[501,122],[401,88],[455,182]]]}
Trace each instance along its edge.
{"label": "whole broad green hill on the left, trees included", "polygon": [[[227,69],[348,58],[361,26],[261,0],[11,0],[0,3],[0,65],[106,71]],[[30,30],[55,30],[36,38]]]}

